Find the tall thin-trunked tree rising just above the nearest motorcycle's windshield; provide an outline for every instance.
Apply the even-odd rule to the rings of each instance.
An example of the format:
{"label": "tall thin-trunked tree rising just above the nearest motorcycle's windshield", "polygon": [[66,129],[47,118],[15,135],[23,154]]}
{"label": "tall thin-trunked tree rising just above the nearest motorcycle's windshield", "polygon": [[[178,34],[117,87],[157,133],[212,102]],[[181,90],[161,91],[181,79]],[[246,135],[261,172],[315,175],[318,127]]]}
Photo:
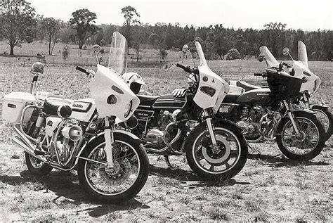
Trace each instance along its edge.
{"label": "tall thin-trunked tree rising just above the nearest motorcycle's windshield", "polygon": [[136,12],[136,9],[132,6],[126,6],[122,8],[122,14],[124,14],[125,22],[124,22],[124,37],[126,38],[127,42],[129,43],[129,47],[131,46],[131,25],[138,24],[140,25],[141,22],[137,19],[140,15]]}

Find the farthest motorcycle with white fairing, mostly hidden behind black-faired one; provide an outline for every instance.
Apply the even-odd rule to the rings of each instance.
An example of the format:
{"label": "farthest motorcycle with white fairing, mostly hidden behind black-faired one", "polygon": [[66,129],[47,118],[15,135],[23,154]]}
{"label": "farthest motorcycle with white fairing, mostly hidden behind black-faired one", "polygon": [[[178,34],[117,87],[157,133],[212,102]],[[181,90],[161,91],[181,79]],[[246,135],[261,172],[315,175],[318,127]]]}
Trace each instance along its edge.
{"label": "farthest motorcycle with white fairing, mostly hidden behind black-faired one", "polygon": [[[325,106],[325,101],[322,100],[322,104],[311,103],[310,96],[315,94],[320,87],[320,78],[311,72],[308,68],[308,56],[306,54],[306,45],[303,42],[298,42],[298,51],[299,51],[299,61],[296,61],[292,58],[289,53],[289,49],[283,49],[283,54],[285,56],[290,56],[293,60],[293,65],[288,63],[278,63],[278,61],[274,58],[273,54],[267,49],[263,51],[263,56],[266,59],[268,66],[270,67],[281,67],[286,70],[289,75],[294,77],[299,77],[304,79],[301,89],[299,92],[299,96],[294,98],[292,104],[297,108],[306,108],[309,110],[313,110],[318,120],[321,122],[322,126],[325,128],[325,141],[332,136],[332,128],[333,128],[333,120],[332,113],[329,111],[328,106]],[[261,59],[263,61],[263,58]],[[244,82],[242,79],[244,76],[238,81],[230,81],[230,84],[233,84],[237,87],[242,87],[245,91],[249,91],[252,89],[259,89],[261,87],[256,86],[254,84],[249,84]]]}

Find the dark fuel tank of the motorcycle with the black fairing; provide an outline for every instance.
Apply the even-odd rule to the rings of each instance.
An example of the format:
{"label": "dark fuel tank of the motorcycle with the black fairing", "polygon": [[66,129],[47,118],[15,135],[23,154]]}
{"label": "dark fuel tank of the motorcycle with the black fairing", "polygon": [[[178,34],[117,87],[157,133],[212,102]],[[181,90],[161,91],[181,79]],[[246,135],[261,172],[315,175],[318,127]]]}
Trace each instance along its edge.
{"label": "dark fuel tank of the motorcycle with the black fairing", "polygon": [[246,91],[237,98],[236,103],[260,106],[268,105],[271,100],[270,89],[263,88]]}

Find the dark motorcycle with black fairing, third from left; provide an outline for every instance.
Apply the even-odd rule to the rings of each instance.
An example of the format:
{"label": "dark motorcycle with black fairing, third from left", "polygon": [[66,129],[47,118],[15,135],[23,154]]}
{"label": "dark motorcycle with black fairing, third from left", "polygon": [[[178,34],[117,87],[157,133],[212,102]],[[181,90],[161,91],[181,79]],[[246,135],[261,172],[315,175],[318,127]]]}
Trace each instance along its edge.
{"label": "dark motorcycle with black fairing, third from left", "polygon": [[[266,46],[261,53],[269,55]],[[248,142],[275,140],[280,151],[292,160],[311,160],[325,145],[325,129],[308,109],[294,108],[304,79],[293,77],[278,68],[266,68],[255,76],[267,78],[268,87],[242,94],[227,94],[218,117],[236,122]]]}

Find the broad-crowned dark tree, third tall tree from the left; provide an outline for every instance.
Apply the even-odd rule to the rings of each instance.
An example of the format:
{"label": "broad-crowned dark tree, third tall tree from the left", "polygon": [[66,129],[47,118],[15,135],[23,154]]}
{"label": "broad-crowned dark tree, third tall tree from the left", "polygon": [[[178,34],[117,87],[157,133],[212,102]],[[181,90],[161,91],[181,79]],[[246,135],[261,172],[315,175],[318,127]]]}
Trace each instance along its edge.
{"label": "broad-crowned dark tree, third tall tree from the left", "polygon": [[72,13],[73,18],[70,19],[70,24],[77,30],[77,38],[79,39],[79,49],[82,49],[83,44],[86,42],[86,38],[91,34],[96,34],[98,28],[96,25],[96,13],[89,11],[86,8],[79,9]]}

